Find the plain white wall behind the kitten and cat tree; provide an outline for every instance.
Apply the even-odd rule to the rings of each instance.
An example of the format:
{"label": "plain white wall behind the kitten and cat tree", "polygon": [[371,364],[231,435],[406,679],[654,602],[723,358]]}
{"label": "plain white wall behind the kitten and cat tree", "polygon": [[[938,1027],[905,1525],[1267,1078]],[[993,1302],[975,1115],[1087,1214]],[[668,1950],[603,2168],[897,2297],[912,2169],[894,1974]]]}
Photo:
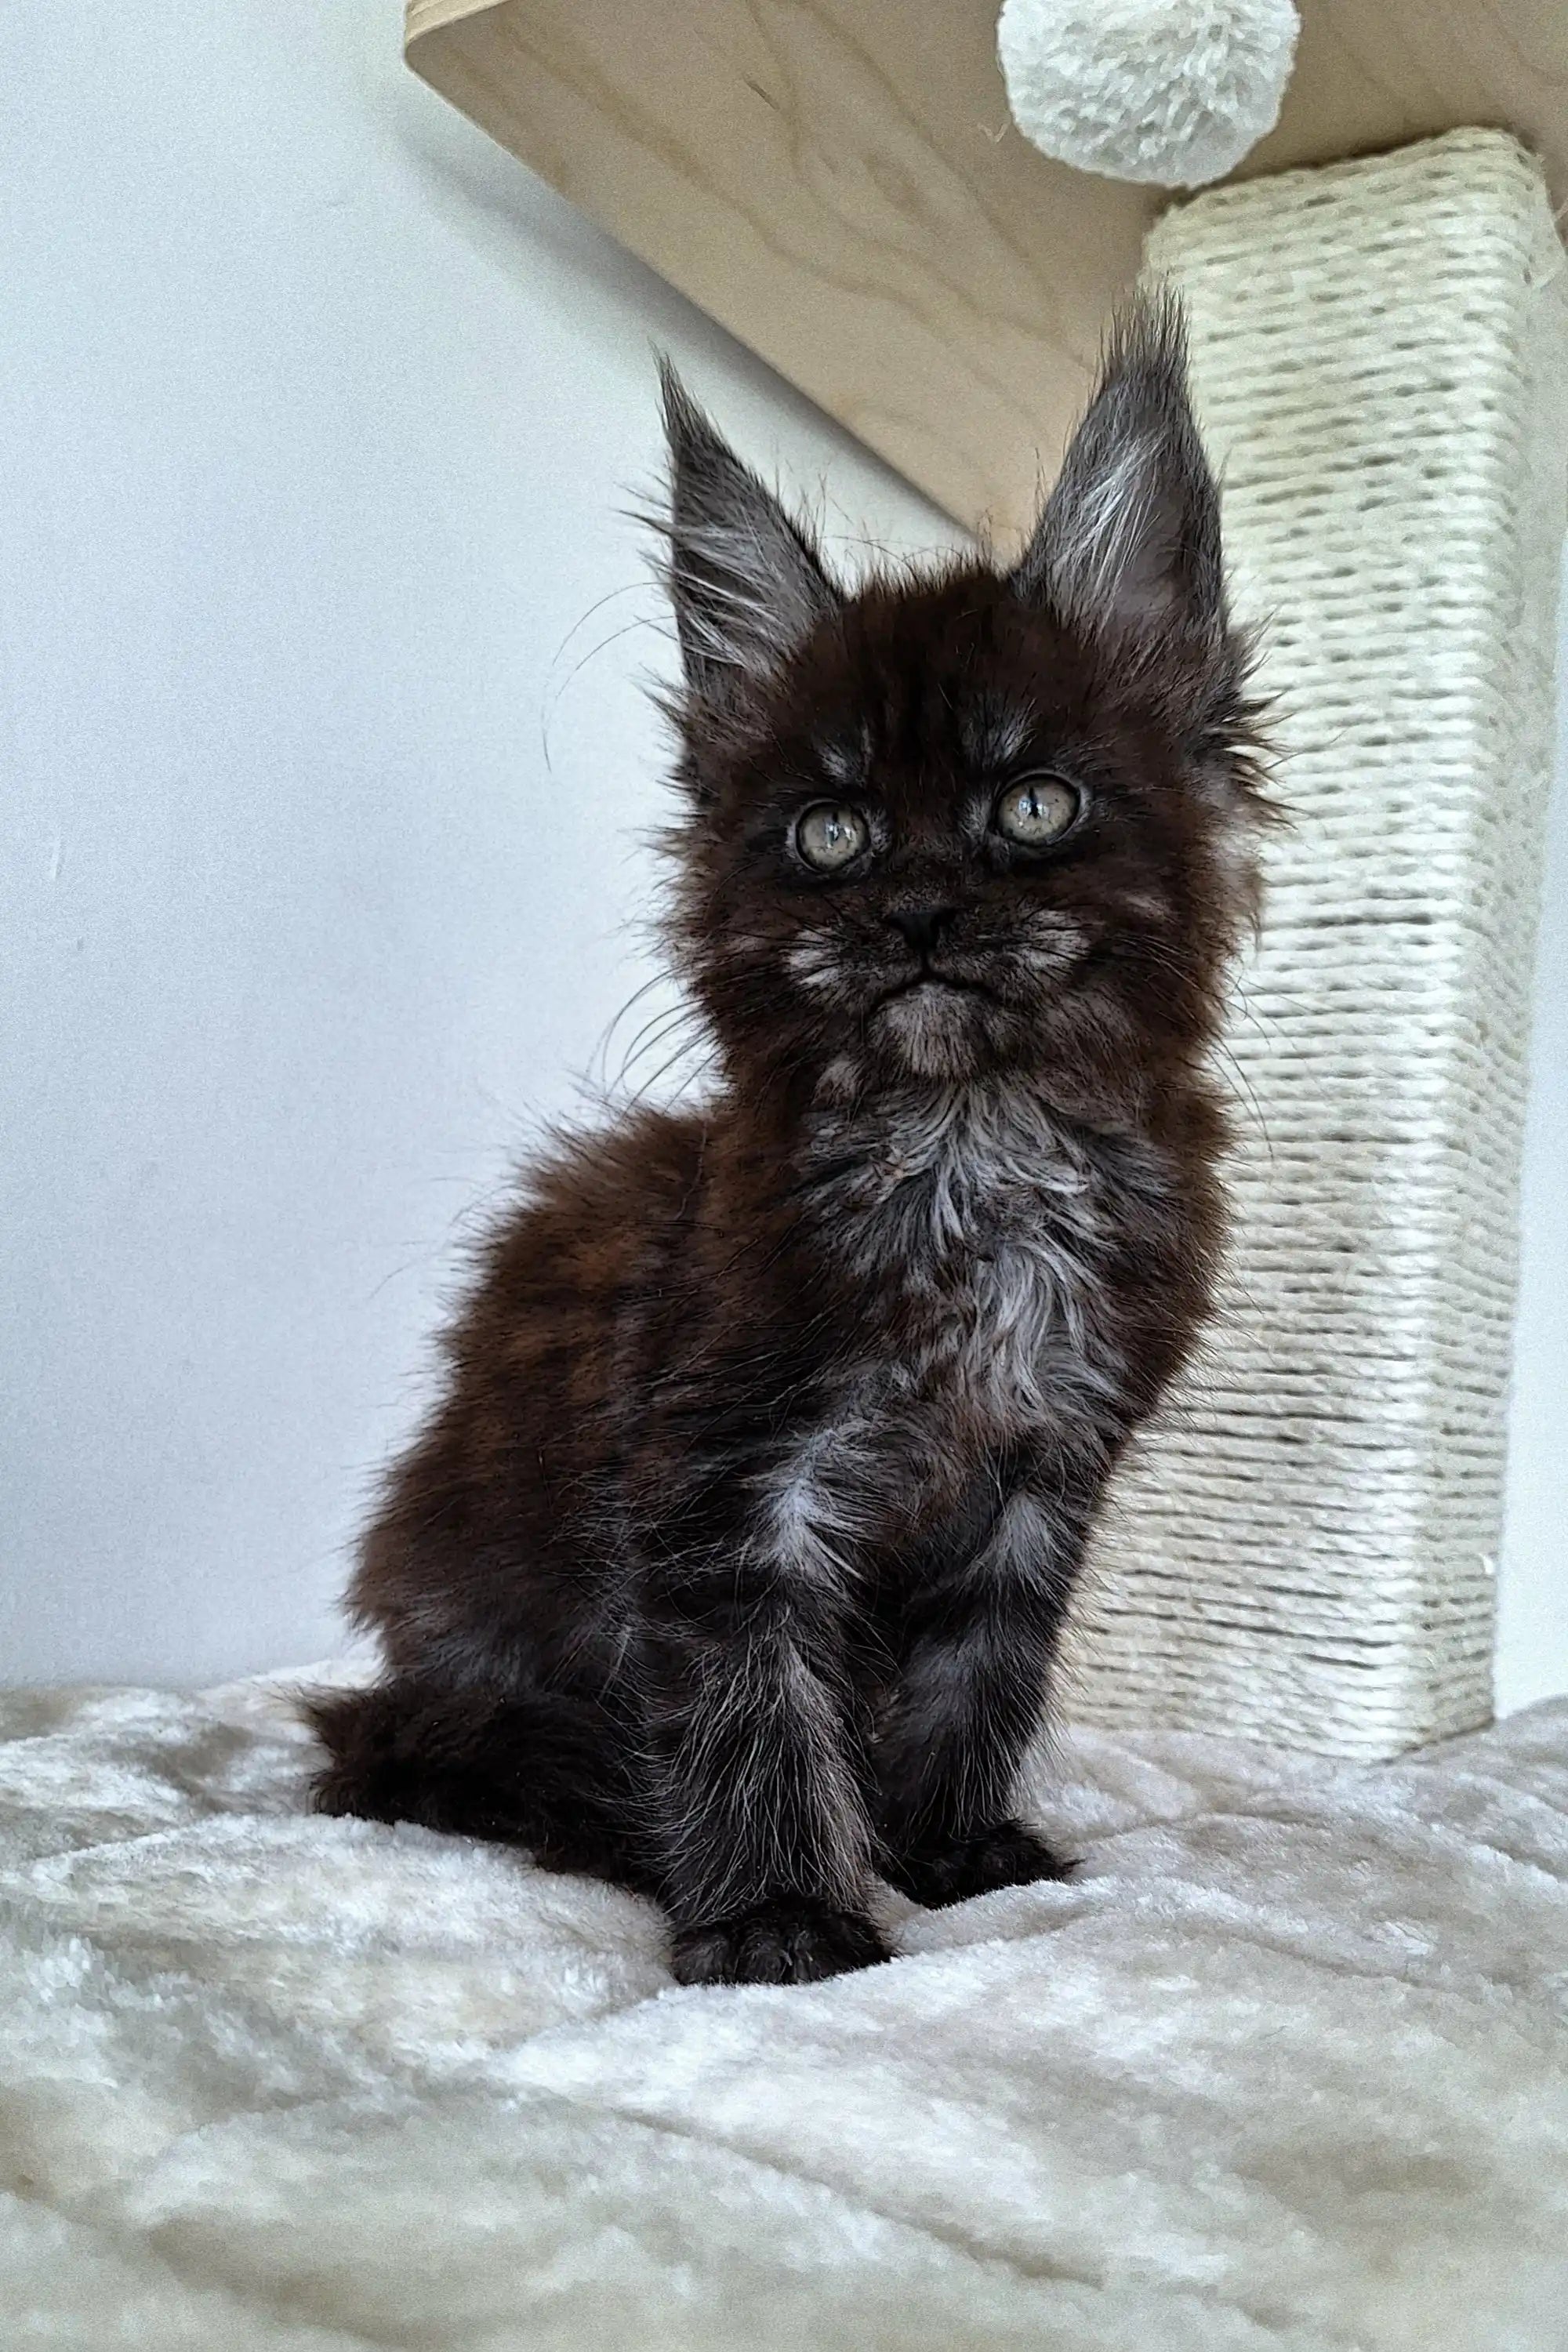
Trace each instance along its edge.
{"label": "plain white wall behind the kitten and cat tree", "polygon": [[[748,454],[947,536],[397,19],[7,24],[0,1679],[339,1639],[463,1214],[644,978],[651,341]],[[1554,858],[1505,1703],[1568,1686],[1563,807]]]}

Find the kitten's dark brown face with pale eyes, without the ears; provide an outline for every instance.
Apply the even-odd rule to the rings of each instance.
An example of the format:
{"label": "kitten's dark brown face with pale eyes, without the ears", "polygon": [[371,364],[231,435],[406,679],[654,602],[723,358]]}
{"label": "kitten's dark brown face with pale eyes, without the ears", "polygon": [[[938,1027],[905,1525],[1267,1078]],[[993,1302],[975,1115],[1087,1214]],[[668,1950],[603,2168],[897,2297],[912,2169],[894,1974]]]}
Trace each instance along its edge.
{"label": "kitten's dark brown face with pale eyes, without the ears", "polygon": [[990,574],[849,604],[708,776],[691,964],[795,1054],[1034,1073],[1161,1030],[1234,931],[1234,814]]}

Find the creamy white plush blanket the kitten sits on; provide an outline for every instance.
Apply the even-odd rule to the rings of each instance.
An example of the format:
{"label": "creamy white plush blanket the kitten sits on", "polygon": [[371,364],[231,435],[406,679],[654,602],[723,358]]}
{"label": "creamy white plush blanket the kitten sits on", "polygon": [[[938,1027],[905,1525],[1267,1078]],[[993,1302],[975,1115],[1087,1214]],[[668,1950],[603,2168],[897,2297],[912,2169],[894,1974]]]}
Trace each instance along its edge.
{"label": "creamy white plush blanket the kitten sits on", "polygon": [[1568,2345],[1568,1700],[1077,1736],[1079,1879],[809,1990],[306,1759],[266,1684],[0,1698],[7,2347]]}

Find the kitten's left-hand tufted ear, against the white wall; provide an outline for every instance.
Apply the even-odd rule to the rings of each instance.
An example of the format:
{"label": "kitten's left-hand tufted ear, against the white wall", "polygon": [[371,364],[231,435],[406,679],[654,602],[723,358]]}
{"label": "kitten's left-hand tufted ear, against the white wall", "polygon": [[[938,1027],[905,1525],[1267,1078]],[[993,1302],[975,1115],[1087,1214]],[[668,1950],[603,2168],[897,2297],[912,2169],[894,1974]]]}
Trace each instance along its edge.
{"label": "kitten's left-hand tufted ear, against the white wall", "polygon": [[670,597],[686,687],[729,710],[839,604],[811,539],[715,433],[665,360]]}

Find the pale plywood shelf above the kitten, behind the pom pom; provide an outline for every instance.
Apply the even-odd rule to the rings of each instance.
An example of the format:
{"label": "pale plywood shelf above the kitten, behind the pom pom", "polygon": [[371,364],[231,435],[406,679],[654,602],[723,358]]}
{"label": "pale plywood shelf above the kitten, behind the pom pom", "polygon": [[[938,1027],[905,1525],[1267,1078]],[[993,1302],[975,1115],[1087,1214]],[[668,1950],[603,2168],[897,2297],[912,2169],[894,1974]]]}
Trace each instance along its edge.
{"label": "pale plywood shelf above the kitten, behind the pom pom", "polygon": [[[969,524],[1020,529],[1161,191],[1013,129],[997,0],[409,0],[414,71]],[[1568,0],[1302,0],[1244,174],[1516,129]]]}

